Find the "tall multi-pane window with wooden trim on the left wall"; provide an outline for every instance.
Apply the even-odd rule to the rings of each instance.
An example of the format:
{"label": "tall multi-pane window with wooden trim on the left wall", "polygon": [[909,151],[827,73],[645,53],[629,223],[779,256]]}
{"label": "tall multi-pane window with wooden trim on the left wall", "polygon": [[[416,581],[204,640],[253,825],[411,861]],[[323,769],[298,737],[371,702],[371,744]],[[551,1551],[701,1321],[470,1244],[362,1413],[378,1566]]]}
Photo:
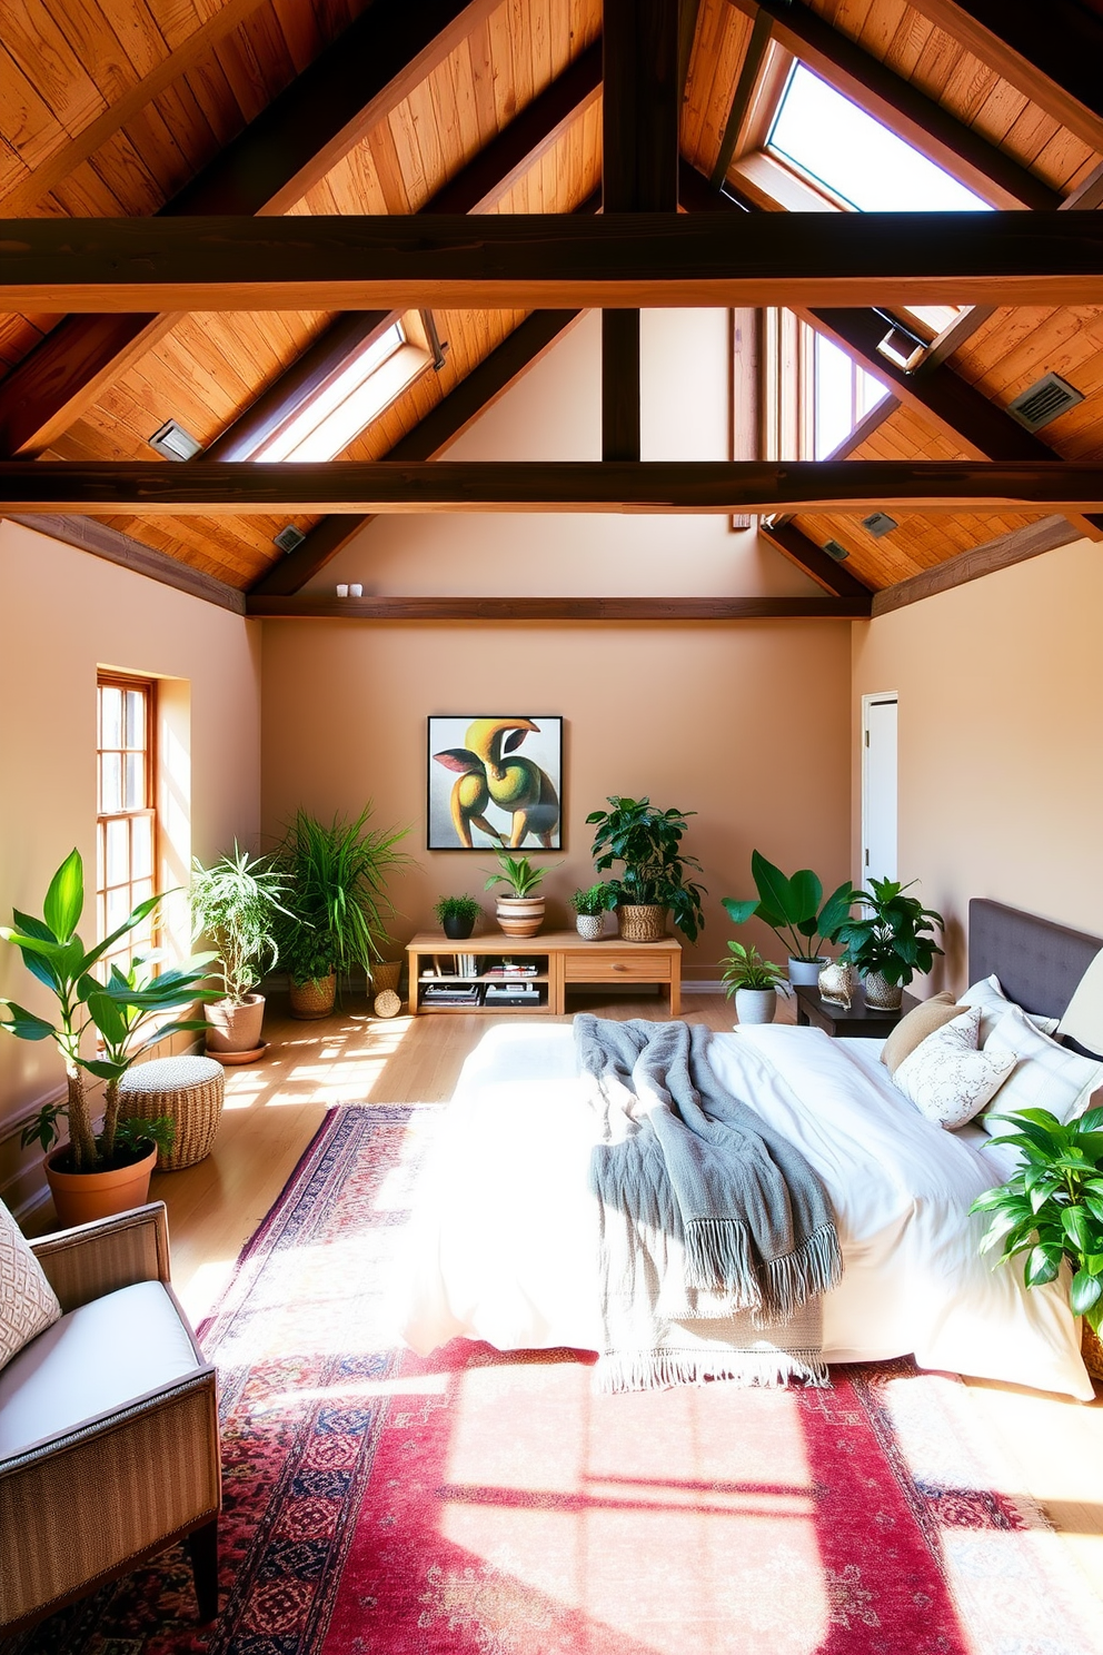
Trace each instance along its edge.
{"label": "tall multi-pane window with wooden trim on the left wall", "polygon": [[[155,687],[99,674],[96,680],[96,937],[103,942],[154,894],[157,866]],[[119,938],[104,965],[126,967],[154,945],[154,919]]]}

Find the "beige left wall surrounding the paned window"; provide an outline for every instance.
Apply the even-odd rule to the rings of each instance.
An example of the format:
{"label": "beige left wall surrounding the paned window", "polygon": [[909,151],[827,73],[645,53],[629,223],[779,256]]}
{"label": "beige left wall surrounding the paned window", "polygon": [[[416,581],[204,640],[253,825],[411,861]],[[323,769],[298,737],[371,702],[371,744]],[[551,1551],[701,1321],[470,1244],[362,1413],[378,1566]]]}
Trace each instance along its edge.
{"label": "beige left wall surrounding the paned window", "polygon": [[[177,849],[210,857],[260,831],[260,626],[141,574],[0,523],[0,915],[41,914],[50,875],[78,846],[96,867],[96,669],[170,679],[164,804]],[[190,758],[184,751],[190,743]],[[189,798],[190,793],[190,798]],[[94,928],[91,899],[83,932]],[[50,995],[0,945],[0,996],[50,1011]],[[10,1122],[60,1082],[53,1048],[0,1036],[0,1195],[18,1203],[30,1162]],[[3,1124],[8,1122],[5,1134]]]}

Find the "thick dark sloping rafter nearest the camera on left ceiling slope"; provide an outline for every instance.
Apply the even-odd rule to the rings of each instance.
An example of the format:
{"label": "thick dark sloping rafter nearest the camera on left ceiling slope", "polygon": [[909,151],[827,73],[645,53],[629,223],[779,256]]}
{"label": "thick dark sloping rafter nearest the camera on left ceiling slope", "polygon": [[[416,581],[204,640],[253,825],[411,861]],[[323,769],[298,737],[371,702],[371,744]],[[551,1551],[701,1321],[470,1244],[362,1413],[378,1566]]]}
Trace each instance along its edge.
{"label": "thick dark sloping rafter nearest the camera on left ceiling slope", "polygon": [[[491,8],[493,0],[425,0],[417,7],[374,0],[157,220],[193,212],[284,212]],[[28,308],[73,309],[60,298]],[[159,314],[165,311],[160,300],[91,308],[111,314],[66,316],[0,382],[0,453],[41,453],[179,319],[172,314],[177,306]]]}

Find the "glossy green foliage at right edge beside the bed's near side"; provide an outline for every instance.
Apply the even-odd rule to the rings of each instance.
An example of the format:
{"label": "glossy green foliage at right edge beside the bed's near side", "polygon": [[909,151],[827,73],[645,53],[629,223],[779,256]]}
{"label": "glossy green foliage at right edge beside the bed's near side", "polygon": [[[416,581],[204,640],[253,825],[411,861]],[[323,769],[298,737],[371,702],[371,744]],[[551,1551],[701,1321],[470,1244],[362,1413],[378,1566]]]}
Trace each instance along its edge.
{"label": "glossy green foliage at right edge beside the bed's near side", "polygon": [[1017,1132],[1000,1137],[1022,1154],[1022,1167],[972,1203],[986,1213],[982,1253],[1000,1263],[1025,1259],[1025,1283],[1055,1281],[1062,1259],[1072,1264],[1070,1304],[1098,1334],[1103,1324],[1103,1109],[1090,1109],[1067,1127],[1047,1109],[1007,1115]]}

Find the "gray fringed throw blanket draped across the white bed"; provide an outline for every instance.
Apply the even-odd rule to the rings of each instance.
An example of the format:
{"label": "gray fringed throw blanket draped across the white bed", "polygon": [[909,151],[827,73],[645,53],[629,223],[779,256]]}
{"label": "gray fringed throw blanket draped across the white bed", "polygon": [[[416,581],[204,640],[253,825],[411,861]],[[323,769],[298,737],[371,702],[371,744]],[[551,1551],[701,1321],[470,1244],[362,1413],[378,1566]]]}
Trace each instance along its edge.
{"label": "gray fringed throw blanket draped across the white bed", "polygon": [[575,1016],[574,1031],[600,1132],[602,1389],[828,1384],[819,1294],[842,1253],[817,1173],[719,1086],[709,1029]]}

